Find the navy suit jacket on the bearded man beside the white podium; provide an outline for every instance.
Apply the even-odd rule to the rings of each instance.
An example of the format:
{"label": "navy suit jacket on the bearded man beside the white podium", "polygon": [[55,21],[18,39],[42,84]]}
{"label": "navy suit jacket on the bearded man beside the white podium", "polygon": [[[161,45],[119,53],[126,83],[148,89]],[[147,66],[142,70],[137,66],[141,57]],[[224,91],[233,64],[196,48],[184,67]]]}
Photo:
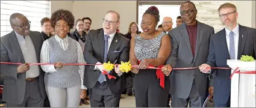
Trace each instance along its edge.
{"label": "navy suit jacket on the bearded man beside the white podium", "polygon": [[[249,55],[256,59],[256,37],[254,28],[239,25],[239,50],[237,59],[240,59],[242,55]],[[224,28],[211,36],[207,64],[211,67],[228,67],[226,64],[227,59],[230,58]],[[211,74],[214,71],[211,70]],[[226,104],[228,98],[230,98],[230,75],[231,70],[216,70],[214,79],[214,103]]]}

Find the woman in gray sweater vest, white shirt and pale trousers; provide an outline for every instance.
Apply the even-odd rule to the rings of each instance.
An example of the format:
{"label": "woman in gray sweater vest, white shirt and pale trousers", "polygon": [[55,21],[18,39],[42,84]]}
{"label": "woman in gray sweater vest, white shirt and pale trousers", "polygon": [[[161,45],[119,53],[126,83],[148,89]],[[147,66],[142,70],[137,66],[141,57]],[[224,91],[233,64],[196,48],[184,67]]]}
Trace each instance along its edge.
{"label": "woman in gray sweater vest, white shirt and pale trousers", "polygon": [[41,65],[45,71],[45,89],[51,107],[79,107],[80,98],[86,97],[83,86],[85,63],[80,44],[67,36],[74,25],[74,16],[68,10],[57,10],[51,16],[52,28],[56,34],[43,42]]}

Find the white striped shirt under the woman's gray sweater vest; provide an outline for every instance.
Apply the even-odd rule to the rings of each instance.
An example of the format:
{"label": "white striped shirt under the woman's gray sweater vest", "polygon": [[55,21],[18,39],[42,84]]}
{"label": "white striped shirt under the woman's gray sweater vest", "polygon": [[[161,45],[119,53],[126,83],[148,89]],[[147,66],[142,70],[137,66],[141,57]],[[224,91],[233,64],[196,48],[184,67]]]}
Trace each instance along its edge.
{"label": "white striped shirt under the woman's gray sweater vest", "polygon": [[[54,35],[54,38],[57,40],[59,43],[61,49],[67,50],[67,47],[69,46],[69,38],[66,36],[66,38],[61,39],[57,35]],[[78,54],[78,63],[86,63],[84,61],[84,55],[83,55],[83,50],[78,42],[76,42],[76,46],[78,47],[77,49],[77,54]],[[49,63],[50,62],[50,53],[49,53],[49,41],[45,40],[42,46],[41,50],[41,63]],[[42,69],[46,73],[53,73],[58,70],[58,68],[55,68],[54,65],[41,65]],[[87,89],[86,86],[83,85],[84,83],[84,65],[79,65],[79,70],[78,70],[80,77],[81,77],[81,89]]]}

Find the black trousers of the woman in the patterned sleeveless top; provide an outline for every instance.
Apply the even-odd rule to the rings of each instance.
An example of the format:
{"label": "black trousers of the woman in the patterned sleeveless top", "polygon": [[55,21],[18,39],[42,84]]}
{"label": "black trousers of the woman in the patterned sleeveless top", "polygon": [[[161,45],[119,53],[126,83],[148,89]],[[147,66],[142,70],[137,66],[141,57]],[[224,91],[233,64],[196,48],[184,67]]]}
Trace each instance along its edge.
{"label": "black trousers of the woman in the patterned sleeveless top", "polygon": [[136,107],[167,107],[170,80],[165,77],[164,89],[157,79],[156,70],[139,70],[134,78]]}

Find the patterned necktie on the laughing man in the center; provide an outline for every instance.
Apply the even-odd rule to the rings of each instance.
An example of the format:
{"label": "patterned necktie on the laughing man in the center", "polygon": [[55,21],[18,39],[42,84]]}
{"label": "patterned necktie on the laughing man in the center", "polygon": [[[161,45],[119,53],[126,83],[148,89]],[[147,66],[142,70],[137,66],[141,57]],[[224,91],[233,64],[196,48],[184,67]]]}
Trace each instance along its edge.
{"label": "patterned necktie on the laughing man in the center", "polygon": [[[110,38],[109,35],[104,35],[105,37],[105,45],[104,45],[104,58],[103,58],[103,62],[107,62],[107,55],[108,55],[108,38]],[[99,83],[104,82],[104,80],[106,79],[104,74],[99,74],[99,78],[98,81]]]}

